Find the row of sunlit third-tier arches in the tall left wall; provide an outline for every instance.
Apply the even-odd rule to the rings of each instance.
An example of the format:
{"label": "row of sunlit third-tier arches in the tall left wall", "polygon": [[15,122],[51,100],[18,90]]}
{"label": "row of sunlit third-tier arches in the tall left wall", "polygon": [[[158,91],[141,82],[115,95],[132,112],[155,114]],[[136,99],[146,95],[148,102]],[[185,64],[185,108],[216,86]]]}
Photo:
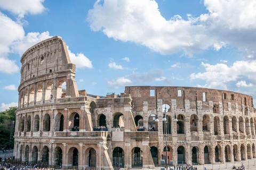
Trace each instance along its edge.
{"label": "row of sunlit third-tier arches in the tall left wall", "polygon": [[20,92],[20,106],[26,105],[29,103],[37,102],[43,100],[49,100],[52,98],[63,98],[66,96],[66,81],[60,80],[57,83],[56,88],[56,96],[54,95],[53,82],[48,82],[43,88],[43,84],[38,84],[35,86],[31,86],[29,89]]}

